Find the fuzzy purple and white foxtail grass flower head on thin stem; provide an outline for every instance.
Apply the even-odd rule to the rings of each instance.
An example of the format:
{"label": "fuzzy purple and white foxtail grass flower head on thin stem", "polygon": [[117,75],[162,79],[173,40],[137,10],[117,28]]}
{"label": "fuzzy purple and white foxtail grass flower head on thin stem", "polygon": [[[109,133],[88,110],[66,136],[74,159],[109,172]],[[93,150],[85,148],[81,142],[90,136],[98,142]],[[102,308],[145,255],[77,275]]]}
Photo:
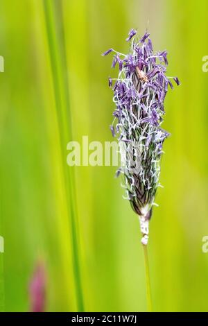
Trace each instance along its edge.
{"label": "fuzzy purple and white foxtail grass flower head on thin stem", "polygon": [[[138,38],[137,31],[131,29],[126,39],[130,42],[128,54],[114,49],[103,53],[114,53],[112,68],[119,67],[118,78],[108,80],[116,105],[110,129],[119,139],[121,153],[121,168],[116,175],[124,175],[125,198],[139,215],[144,245],[148,243],[149,220],[160,186],[162,146],[169,135],[161,128],[164,99],[168,87],[173,89],[171,80],[180,85],[177,77],[166,76],[167,52],[154,53],[149,36],[145,33]],[[136,169],[132,169],[132,163]]]}

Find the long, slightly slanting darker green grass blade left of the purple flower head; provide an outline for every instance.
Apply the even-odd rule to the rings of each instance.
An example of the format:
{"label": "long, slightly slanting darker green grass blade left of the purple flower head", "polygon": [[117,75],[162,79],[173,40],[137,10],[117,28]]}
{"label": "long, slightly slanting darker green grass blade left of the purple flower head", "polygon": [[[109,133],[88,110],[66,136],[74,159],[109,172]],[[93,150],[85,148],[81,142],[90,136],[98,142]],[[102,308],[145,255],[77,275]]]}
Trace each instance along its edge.
{"label": "long, slightly slanting darker green grass blade left of the purple flower head", "polygon": [[[60,45],[58,32],[55,28],[55,8],[54,2],[44,0],[44,15],[46,21],[46,32],[49,42],[49,53],[51,59],[51,69],[53,76],[53,88],[55,94],[55,106],[58,117],[58,126],[60,132],[60,142],[62,148],[62,170],[65,180],[65,191],[67,194],[67,207],[69,218],[71,218],[71,237],[73,247],[73,271],[76,285],[77,307],[78,311],[84,311],[83,293],[80,277],[79,250],[78,250],[78,232],[77,232],[77,209],[75,198],[75,180],[73,171],[67,167],[65,149],[67,142],[72,138],[71,117],[69,108],[69,91],[67,82],[67,65],[64,55],[64,46]],[[64,40],[64,38],[62,38]],[[61,60],[60,60],[61,58]]]}

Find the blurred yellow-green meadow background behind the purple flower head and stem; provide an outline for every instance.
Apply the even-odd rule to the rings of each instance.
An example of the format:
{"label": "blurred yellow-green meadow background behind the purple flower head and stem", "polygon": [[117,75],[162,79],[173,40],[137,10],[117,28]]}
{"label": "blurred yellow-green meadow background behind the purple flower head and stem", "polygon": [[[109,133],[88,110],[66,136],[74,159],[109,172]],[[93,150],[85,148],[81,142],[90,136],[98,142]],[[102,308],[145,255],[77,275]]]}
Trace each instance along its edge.
{"label": "blurred yellow-green meadow background behind the purple flower head and stem", "polygon": [[[28,311],[43,261],[46,311],[146,311],[137,216],[114,166],[67,166],[67,142],[112,141],[111,46],[130,28],[168,51],[171,132],[150,223],[155,311],[208,311],[207,0],[1,0],[0,309]],[[78,273],[78,265],[80,273]],[[81,293],[82,292],[82,293]]]}

